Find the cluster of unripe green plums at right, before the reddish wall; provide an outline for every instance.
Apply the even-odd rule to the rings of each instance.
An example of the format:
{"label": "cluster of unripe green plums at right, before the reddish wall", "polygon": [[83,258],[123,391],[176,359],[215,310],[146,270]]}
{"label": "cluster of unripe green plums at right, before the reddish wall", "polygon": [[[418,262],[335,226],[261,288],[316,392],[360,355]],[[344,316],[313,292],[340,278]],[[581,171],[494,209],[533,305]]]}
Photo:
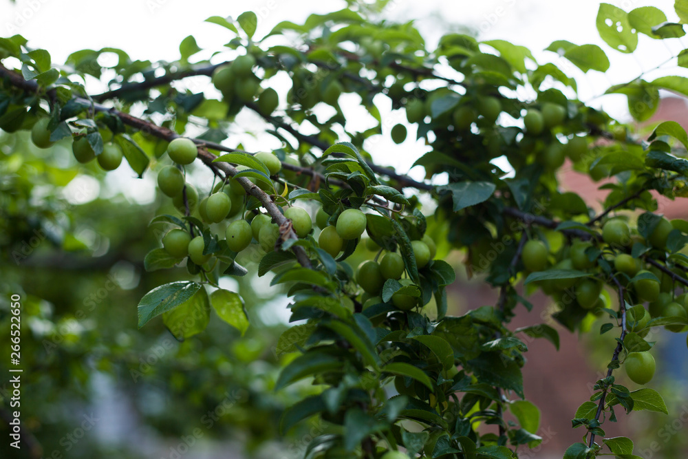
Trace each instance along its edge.
{"label": "cluster of unripe green plums at right, before the reddish wall", "polygon": [[[674,226],[662,218],[649,233],[647,240],[632,230],[625,220],[612,218],[602,227],[601,241],[576,240],[559,253],[556,264],[550,266],[550,251],[539,240],[529,240],[524,244],[522,262],[530,272],[554,270],[585,271],[590,277],[569,277],[540,281],[539,286],[548,295],[557,299],[563,308],[580,307],[583,310],[601,312],[605,308],[602,295],[604,283],[603,265],[608,273],[619,281],[636,306],[627,309],[627,330],[640,337],[649,332],[651,319],[668,317],[677,323],[665,325],[671,332],[685,332],[688,319],[688,294],[676,295],[676,286],[671,275],[655,266],[646,269],[641,257],[633,257],[629,252],[634,244],[642,244],[648,250],[667,250],[669,233]],[[613,267],[613,268],[612,268]],[[566,296],[568,295],[568,297]],[[566,301],[569,299],[570,301]],[[647,303],[647,307],[644,303]],[[625,367],[628,376],[638,384],[645,384],[654,374],[654,359],[649,352],[632,352],[627,356]]]}

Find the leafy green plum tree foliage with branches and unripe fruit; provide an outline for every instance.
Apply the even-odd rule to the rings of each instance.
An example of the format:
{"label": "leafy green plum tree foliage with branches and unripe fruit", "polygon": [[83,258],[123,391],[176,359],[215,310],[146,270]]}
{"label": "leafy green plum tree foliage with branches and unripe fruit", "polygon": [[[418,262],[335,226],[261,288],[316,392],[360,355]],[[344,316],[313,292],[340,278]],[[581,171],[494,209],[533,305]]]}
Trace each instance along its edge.
{"label": "leafy green plum tree foliage with branches and unripe fruit", "polygon": [[[681,21],[684,3],[676,2]],[[149,217],[158,239],[180,228],[191,242],[175,249],[138,242],[150,250],[132,262],[155,273],[146,275],[147,292],[140,292],[142,333],[162,323],[183,343],[170,368],[186,359],[208,363],[193,381],[173,378],[174,390],[183,393],[197,383],[194,396],[222,403],[229,365],[239,372],[233,376],[237,394],[268,401],[257,404],[256,429],[272,412],[269,403],[277,402],[288,405],[281,409],[282,434],[302,428],[306,419],[324,422],[327,427],[308,442],[308,458],[379,458],[398,449],[411,457],[515,458],[517,449],[541,442],[539,410],[524,400],[522,334],[559,345],[546,323],[508,327],[521,306],[531,307],[517,291],[522,282],[527,293],[540,289],[555,299],[554,317],[571,332],[603,315],[610,321],[600,333],[619,336],[606,376],[572,420],[572,427],[582,427],[583,441],[564,457],[637,457],[630,439],[606,438],[603,424],[615,421],[620,408],[667,412],[658,392],[631,391],[615,381],[614,370],[630,352],[649,356],[642,353],[654,344],[643,339],[650,328],[685,332],[688,325],[688,257],[682,253],[688,224],[657,215],[651,193],[685,195],[688,135],[677,123],[663,122],[641,140],[631,127],[578,100],[573,78],[554,63],[538,63],[524,47],[450,33],[431,50],[413,23],[377,17],[375,8],[352,3],[347,10],[313,14],[303,24],[279,23],[262,38],[255,36],[251,12],[236,21],[211,17],[208,22],[231,37],[226,47],[233,61],[219,64],[189,63],[201,51],[193,36],[182,41],[175,62],[133,61],[122,50],[104,48],[74,52],[60,66],[22,36],[0,39],[0,127],[17,131],[2,153],[5,261],[29,257],[32,250],[23,253],[20,246],[34,233],[65,251],[95,252],[75,233],[81,219],[126,220],[129,207],[107,200],[69,206],[61,187],[80,172],[102,177],[96,162],[117,169],[123,157],[141,178],[173,158],[184,186],[176,192],[175,184],[165,187],[173,197],[160,192]],[[625,12],[603,3],[596,25],[605,43],[630,53],[639,40],[685,34],[682,23],[666,20],[654,7]],[[555,41],[547,50],[583,72],[610,67],[596,45]],[[104,53],[117,54],[118,62],[102,67],[98,58]],[[681,56],[678,61],[682,65]],[[109,78],[113,89],[87,94],[87,76]],[[193,92],[180,84],[191,76],[210,76],[217,91]],[[286,98],[270,88],[276,76],[292,82]],[[607,94],[624,94],[634,119],[644,121],[654,114],[660,89],[688,95],[680,76],[639,76]],[[379,98],[389,98],[409,121],[408,129],[390,129],[394,142],[415,132],[428,146],[416,161],[426,180],[372,162],[369,139],[387,134]],[[376,125],[350,129],[340,105],[345,99],[358,100]],[[319,111],[325,105],[330,118]],[[281,148],[256,155],[228,146],[244,110],[265,120],[265,132]],[[317,134],[303,134],[309,128]],[[175,140],[182,136],[193,142]],[[45,150],[29,137],[50,147],[50,154],[42,155]],[[82,139],[87,145],[76,147]],[[73,141],[75,152],[85,149],[76,153],[83,166],[67,162],[65,149]],[[506,158],[513,173],[497,167],[496,158]],[[601,186],[608,190],[605,211],[595,215],[577,193],[561,191],[557,174],[567,158],[594,181],[611,178]],[[50,192],[41,195],[39,185]],[[230,204],[216,193],[226,194]],[[421,205],[420,193],[432,206]],[[293,207],[308,213],[287,211]],[[321,230],[334,230],[316,237],[310,215],[317,215]],[[237,253],[227,239],[239,233],[228,224],[241,219],[250,222],[252,242]],[[118,226],[109,237],[126,235]],[[527,244],[529,239],[539,242]],[[466,254],[469,273],[499,289],[495,306],[448,314],[447,286],[455,273],[443,258],[455,250]],[[395,269],[378,265],[389,253],[401,260],[393,275],[387,273]],[[355,269],[354,260],[365,264]],[[255,270],[258,281],[251,279]],[[264,343],[256,352],[235,352],[230,361],[194,347],[215,340],[246,346],[247,333],[260,341],[260,324],[250,323],[245,306],[256,293],[250,293],[252,281],[268,273],[271,288],[289,297],[290,322],[298,322],[279,338],[272,329],[263,335],[264,343],[275,346],[274,355],[264,355]],[[19,288],[19,279],[14,283]],[[241,295],[229,285],[241,286]],[[603,286],[616,301],[609,301]],[[26,300],[25,314],[34,321],[50,319],[41,310],[42,297],[34,292]],[[124,301],[118,307],[117,317],[127,319],[110,332],[136,339],[130,332],[133,306]],[[103,350],[98,365],[126,358],[114,345]],[[256,389],[257,367],[239,367],[258,361],[270,365],[275,378]],[[647,379],[642,368],[635,373]],[[233,396],[232,405],[239,398],[244,396]],[[187,416],[191,408],[181,405]],[[239,403],[235,409],[254,416],[252,407]],[[506,412],[517,422],[508,422]],[[269,436],[277,431],[265,429],[261,440]]]}

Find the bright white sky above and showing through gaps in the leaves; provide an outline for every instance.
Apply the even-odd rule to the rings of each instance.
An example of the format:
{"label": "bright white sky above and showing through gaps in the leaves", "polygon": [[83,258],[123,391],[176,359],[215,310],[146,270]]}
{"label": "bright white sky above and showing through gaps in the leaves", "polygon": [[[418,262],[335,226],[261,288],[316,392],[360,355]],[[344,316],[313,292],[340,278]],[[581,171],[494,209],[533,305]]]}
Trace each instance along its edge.
{"label": "bright white sky above and showing through gaps in the leaves", "polygon": [[[626,11],[640,6],[656,6],[663,10],[669,21],[678,18],[673,0],[608,0]],[[66,56],[83,48],[99,49],[111,46],[125,50],[132,58],[175,60],[179,56],[179,43],[193,34],[197,43],[210,50],[222,50],[230,35],[224,28],[204,23],[210,16],[233,16],[246,10],[256,12],[260,21],[256,36],[268,32],[283,20],[303,21],[308,14],[330,12],[345,6],[336,0],[244,0],[244,1],[184,1],[184,0],[0,0],[0,36],[19,33],[32,47],[50,51],[53,61],[61,63]],[[431,46],[444,30],[458,30],[460,26],[480,30],[480,39],[506,39],[525,45],[533,51],[539,62],[554,61],[570,76],[575,76],[581,100],[591,100],[614,83],[624,83],[641,72],[652,69],[678,51],[688,47],[688,38],[652,40],[640,36],[638,50],[632,55],[621,54],[606,46],[595,28],[598,1],[579,0],[392,0],[390,19],[407,21],[416,19],[421,32]],[[579,72],[568,61],[550,52],[542,52],[552,41],[566,39],[577,44],[595,43],[608,54],[612,66],[606,74],[591,71]],[[226,48],[225,48],[226,49]],[[200,56],[203,56],[200,54]],[[207,55],[206,55],[207,56]],[[670,67],[669,67],[670,68]],[[671,72],[677,72],[676,68]],[[678,70],[688,75],[686,69]],[[655,71],[646,79],[667,74]],[[593,105],[603,105],[614,116],[625,117],[625,96],[595,98]],[[389,107],[380,107],[389,129],[404,120],[400,112],[390,113]],[[355,116],[352,118],[356,118]],[[365,125],[365,116],[361,118]],[[246,117],[244,122],[254,122]],[[263,149],[264,138],[246,140],[247,149]],[[276,147],[276,145],[268,145]],[[396,148],[396,151],[393,149]],[[402,149],[402,150],[400,150]],[[421,142],[407,140],[401,146],[387,141],[372,142],[369,151],[380,164],[390,164],[405,172],[418,151],[426,151]],[[394,151],[393,154],[390,154]],[[422,177],[422,171],[413,171]]]}

